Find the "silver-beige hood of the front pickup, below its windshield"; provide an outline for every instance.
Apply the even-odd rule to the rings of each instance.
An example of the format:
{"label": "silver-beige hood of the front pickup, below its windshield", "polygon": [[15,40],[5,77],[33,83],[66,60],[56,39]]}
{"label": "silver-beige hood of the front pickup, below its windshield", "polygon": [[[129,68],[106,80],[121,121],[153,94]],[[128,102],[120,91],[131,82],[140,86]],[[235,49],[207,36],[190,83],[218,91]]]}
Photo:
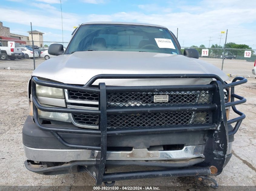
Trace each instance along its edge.
{"label": "silver-beige hood of the front pickup, below its windshield", "polygon": [[[67,84],[85,84],[98,74],[215,74],[229,80],[219,68],[200,59],[182,55],[121,52],[83,51],[56,56],[46,60],[33,72],[33,76],[48,78]],[[181,85],[208,84],[212,79],[99,79],[106,85]]]}

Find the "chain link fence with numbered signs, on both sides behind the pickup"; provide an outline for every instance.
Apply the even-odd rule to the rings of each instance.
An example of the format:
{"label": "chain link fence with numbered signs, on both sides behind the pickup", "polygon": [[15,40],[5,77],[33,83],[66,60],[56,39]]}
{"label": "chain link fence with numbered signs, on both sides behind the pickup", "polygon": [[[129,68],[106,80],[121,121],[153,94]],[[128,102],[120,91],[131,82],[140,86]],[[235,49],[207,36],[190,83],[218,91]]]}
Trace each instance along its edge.
{"label": "chain link fence with numbered signs, on both sides behind the pickup", "polygon": [[[14,44],[11,44],[13,42]],[[45,60],[55,57],[48,54],[48,47],[52,43],[63,44],[64,48],[68,46],[68,42],[34,41],[35,68]],[[34,56],[32,48],[32,41],[0,40],[0,68],[33,70]],[[256,59],[256,50],[181,47],[182,54],[186,48],[197,49],[199,59],[215,65],[229,76],[255,77],[251,70],[253,69],[254,61]],[[17,49],[19,49],[18,52]]]}

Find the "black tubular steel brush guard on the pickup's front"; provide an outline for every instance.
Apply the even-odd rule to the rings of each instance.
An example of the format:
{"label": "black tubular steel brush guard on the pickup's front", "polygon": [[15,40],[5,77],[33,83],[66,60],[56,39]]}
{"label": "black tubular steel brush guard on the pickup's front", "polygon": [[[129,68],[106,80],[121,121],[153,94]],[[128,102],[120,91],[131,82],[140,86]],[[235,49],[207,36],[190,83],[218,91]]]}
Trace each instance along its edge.
{"label": "black tubular steel brush guard on the pickup's front", "polygon": [[[99,83],[99,88],[90,88],[90,86],[97,79],[140,79],[140,78],[213,78],[207,85],[171,85],[171,86],[131,86],[131,87],[106,87],[105,83]],[[96,75],[91,78],[83,87],[55,82],[48,82],[39,80],[37,77],[32,78],[32,101],[34,120],[39,129],[51,132],[52,135],[58,139],[63,145],[73,149],[87,149],[100,151],[95,163],[91,165],[85,163],[85,170],[95,179],[96,185],[101,185],[104,182],[107,186],[114,185],[117,180],[131,180],[140,178],[156,178],[156,177],[183,177],[183,176],[207,176],[218,175],[221,173],[226,160],[228,136],[234,135],[245,115],[238,111],[235,105],[245,103],[246,99],[234,93],[234,87],[246,83],[247,79],[242,77],[234,78],[232,83],[226,84],[219,76],[213,74],[163,74],[163,75]],[[83,110],[71,108],[45,107],[42,106],[36,96],[36,84],[41,86],[62,88],[76,91],[85,91],[91,93],[98,93],[99,96],[99,110]],[[231,102],[225,103],[224,89],[231,88]],[[185,106],[162,106],[162,107],[135,107],[125,109],[107,109],[106,94],[115,91],[153,91],[155,89],[161,90],[206,90],[213,92],[212,104],[208,105],[185,105]],[[237,98],[237,101],[234,101]],[[226,111],[227,107],[232,107],[233,111],[239,117],[227,121]],[[93,114],[99,115],[99,129],[82,129],[82,128],[63,128],[61,125],[42,125],[38,117],[38,109],[47,112],[62,112],[62,113],[77,113],[77,114]],[[160,112],[160,111],[212,111],[212,124],[207,125],[192,125],[192,126],[170,126],[158,128],[140,128],[140,129],[115,129],[107,130],[107,115],[120,113],[142,113],[142,112]],[[232,131],[228,132],[227,125],[236,123]],[[158,132],[189,132],[189,131],[206,131],[208,132],[203,162],[192,167],[175,168],[167,170],[148,170],[148,171],[133,171],[120,173],[105,173],[106,154],[107,154],[107,136],[116,135],[131,135],[139,133],[158,133]],[[77,134],[94,134],[101,135],[101,145],[75,145],[66,142],[58,133],[77,133]],[[25,166],[29,169],[28,163]],[[211,167],[216,167],[217,172],[212,173]],[[29,169],[31,170],[31,169]],[[36,171],[34,171],[36,172]],[[37,172],[39,173],[39,172]],[[42,172],[41,172],[42,173]],[[111,183],[108,183],[111,182]]]}

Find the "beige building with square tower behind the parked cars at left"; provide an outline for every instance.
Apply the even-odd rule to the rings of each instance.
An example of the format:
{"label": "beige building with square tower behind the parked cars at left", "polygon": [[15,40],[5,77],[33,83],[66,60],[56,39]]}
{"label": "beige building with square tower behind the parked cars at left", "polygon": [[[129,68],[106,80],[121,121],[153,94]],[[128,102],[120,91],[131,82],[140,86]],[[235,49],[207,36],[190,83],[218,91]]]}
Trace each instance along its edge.
{"label": "beige building with square tower behind the parked cars at left", "polygon": [[40,31],[37,30],[32,30],[27,32],[29,35],[21,35],[21,34],[14,34],[10,33],[10,28],[9,27],[4,27],[3,23],[0,22],[0,40],[5,40],[5,42],[2,42],[4,46],[6,46],[7,42],[6,41],[14,41],[16,44],[23,44],[23,45],[32,45],[32,34],[33,34],[33,40],[34,40],[34,45],[38,47],[43,47],[44,46],[44,38],[43,34]]}

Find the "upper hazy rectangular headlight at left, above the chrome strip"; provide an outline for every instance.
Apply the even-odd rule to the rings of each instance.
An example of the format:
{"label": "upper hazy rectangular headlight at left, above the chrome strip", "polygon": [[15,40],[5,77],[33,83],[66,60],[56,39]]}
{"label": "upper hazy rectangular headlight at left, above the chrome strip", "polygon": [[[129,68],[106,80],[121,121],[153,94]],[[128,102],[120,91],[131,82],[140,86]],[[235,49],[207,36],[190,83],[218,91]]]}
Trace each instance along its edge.
{"label": "upper hazy rectangular headlight at left, above the chrome strip", "polygon": [[40,97],[65,98],[64,90],[36,84],[36,95]]}

